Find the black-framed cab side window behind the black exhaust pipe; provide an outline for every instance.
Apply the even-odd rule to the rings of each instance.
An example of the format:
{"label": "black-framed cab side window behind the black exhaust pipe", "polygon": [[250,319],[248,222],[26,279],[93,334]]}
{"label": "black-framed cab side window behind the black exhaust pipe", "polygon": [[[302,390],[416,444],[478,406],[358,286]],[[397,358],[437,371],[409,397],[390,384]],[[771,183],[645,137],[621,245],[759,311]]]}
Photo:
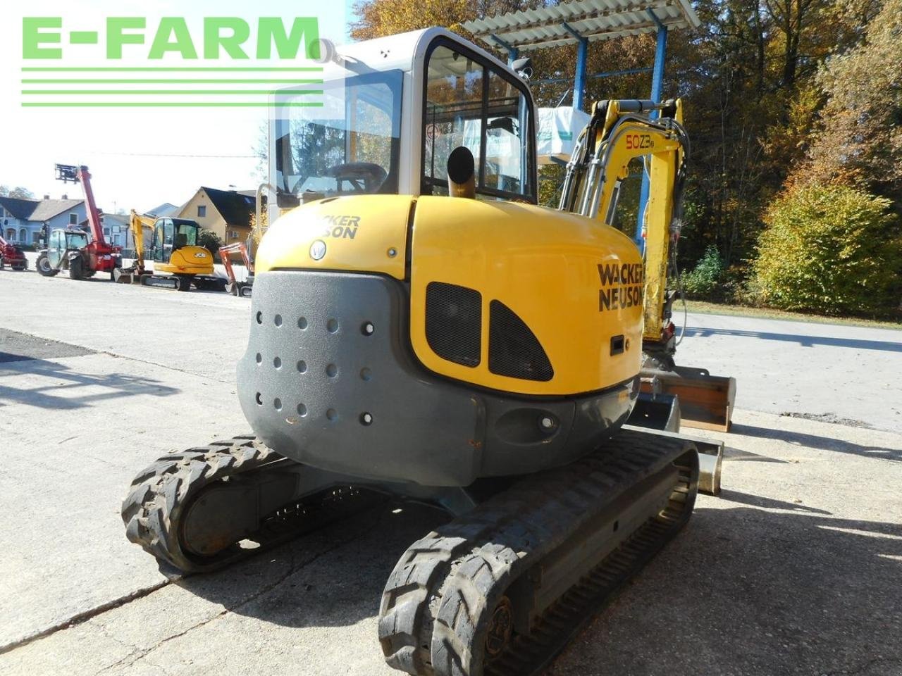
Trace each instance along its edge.
{"label": "black-framed cab side window behind the black exhaust pipe", "polygon": [[434,47],[427,59],[423,194],[447,195],[448,155],[465,146],[475,161],[477,196],[535,201],[522,83],[450,45]]}

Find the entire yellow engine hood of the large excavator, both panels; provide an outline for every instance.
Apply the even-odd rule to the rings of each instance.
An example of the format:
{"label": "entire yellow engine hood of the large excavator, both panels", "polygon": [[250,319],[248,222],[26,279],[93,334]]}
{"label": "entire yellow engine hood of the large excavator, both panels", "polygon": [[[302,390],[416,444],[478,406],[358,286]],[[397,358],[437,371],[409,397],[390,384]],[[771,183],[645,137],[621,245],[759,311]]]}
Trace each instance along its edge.
{"label": "entire yellow engine hood of the large excavator, both panels", "polygon": [[[406,279],[410,344],[424,367],[484,388],[541,396],[590,393],[639,373],[642,268],[630,238],[594,219],[541,206],[444,196],[318,200],[273,224],[257,255],[258,275],[323,269]],[[425,327],[432,282],[479,292],[478,363],[447,361],[430,346]],[[553,377],[539,381],[493,372],[493,301],[534,333]]]}

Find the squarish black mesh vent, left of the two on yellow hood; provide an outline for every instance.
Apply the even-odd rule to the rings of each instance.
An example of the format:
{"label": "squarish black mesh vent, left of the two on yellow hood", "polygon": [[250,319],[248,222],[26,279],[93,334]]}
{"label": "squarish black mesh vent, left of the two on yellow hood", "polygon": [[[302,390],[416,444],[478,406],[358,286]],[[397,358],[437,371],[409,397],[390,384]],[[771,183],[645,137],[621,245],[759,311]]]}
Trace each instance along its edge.
{"label": "squarish black mesh vent, left of the two on yellow hood", "polygon": [[477,366],[482,351],[483,297],[445,282],[426,287],[426,340],[442,359]]}

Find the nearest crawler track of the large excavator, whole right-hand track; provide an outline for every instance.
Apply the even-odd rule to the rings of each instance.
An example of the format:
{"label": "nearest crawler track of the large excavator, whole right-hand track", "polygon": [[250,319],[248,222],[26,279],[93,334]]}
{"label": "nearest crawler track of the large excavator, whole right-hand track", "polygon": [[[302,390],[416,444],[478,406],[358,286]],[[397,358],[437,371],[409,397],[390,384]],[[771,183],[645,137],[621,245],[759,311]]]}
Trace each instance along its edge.
{"label": "nearest crawler track of the large excavator, whole right-hand track", "polygon": [[532,475],[401,557],[382,596],[386,661],[427,676],[540,671],[686,524],[692,443],[623,432]]}

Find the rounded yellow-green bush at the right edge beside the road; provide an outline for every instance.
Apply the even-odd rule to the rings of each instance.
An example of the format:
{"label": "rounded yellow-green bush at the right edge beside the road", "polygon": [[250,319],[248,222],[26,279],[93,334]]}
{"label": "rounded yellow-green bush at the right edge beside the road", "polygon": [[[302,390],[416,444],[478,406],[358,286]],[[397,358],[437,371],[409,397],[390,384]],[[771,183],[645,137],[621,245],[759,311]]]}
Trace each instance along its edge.
{"label": "rounded yellow-green bush at the right edge beside the road", "polygon": [[770,206],[755,261],[765,303],[828,315],[899,305],[902,230],[890,202],[846,186],[796,187]]}

